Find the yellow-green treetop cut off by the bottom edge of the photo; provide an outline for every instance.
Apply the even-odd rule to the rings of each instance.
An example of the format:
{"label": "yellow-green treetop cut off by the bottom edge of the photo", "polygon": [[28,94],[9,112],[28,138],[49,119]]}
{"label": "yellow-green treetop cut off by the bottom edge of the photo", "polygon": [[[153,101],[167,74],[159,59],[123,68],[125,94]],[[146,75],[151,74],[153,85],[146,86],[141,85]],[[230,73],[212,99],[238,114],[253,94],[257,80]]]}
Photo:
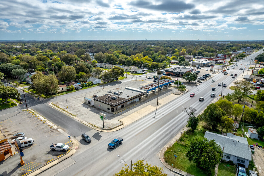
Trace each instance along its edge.
{"label": "yellow-green treetop cut off by the bottom edge of the photo", "polygon": [[143,160],[138,160],[136,163],[132,164],[133,169],[130,170],[128,165],[125,165],[122,170],[116,173],[114,176],[166,176],[163,173],[163,169],[158,166],[152,166],[151,164],[144,164]]}

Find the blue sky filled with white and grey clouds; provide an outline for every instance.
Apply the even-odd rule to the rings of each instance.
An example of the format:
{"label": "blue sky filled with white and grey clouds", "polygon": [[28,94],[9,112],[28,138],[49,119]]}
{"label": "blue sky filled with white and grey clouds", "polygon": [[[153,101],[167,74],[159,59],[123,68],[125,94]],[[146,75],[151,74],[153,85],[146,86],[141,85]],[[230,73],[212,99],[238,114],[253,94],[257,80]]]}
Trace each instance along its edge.
{"label": "blue sky filled with white and grey clouds", "polygon": [[264,40],[263,0],[1,0],[0,40]]}

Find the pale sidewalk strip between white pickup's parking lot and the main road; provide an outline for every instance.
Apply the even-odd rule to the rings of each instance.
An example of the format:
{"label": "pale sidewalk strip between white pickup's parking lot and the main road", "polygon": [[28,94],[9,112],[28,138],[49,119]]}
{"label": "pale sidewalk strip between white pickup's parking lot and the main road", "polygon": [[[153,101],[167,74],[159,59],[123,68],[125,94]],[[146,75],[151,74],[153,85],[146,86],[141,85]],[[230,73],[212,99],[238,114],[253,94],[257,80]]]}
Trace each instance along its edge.
{"label": "pale sidewalk strip between white pickup's parking lot and the main road", "polygon": [[55,166],[56,164],[60,163],[61,161],[67,159],[68,157],[71,157],[71,155],[73,155],[77,148],[79,148],[79,143],[75,138],[71,139],[71,143],[72,143],[72,148],[70,151],[68,151],[66,154],[62,155],[61,157],[56,158],[55,160],[53,160],[50,163],[45,164],[44,166],[30,172],[28,175],[39,175],[40,173],[46,171],[47,169],[51,168],[52,166]]}

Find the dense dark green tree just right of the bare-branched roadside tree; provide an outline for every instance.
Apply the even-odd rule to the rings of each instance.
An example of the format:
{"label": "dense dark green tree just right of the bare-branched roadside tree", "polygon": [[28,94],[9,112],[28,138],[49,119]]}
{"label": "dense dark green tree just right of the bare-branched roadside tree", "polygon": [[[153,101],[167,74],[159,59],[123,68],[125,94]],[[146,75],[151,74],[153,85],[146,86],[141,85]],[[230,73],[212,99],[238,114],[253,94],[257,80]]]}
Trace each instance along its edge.
{"label": "dense dark green tree just right of the bare-branched roadside tree", "polygon": [[225,112],[218,107],[215,103],[209,104],[204,112],[199,115],[200,119],[205,121],[207,125],[211,126],[213,129],[216,129],[218,123],[221,121],[222,116],[225,116]]}

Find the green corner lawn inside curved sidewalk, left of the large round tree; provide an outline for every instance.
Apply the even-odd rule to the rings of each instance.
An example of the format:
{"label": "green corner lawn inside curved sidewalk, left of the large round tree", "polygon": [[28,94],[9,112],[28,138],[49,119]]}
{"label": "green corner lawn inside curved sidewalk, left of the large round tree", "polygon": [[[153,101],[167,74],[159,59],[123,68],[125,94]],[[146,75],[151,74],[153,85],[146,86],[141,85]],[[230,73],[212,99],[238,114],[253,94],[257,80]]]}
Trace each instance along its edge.
{"label": "green corner lawn inside curved sidewalk, left of the large round tree", "polygon": [[[176,167],[184,172],[190,173],[195,176],[205,176],[208,175],[206,171],[196,167],[193,161],[189,161],[185,154],[187,153],[187,147],[174,143],[167,151],[164,153],[165,161],[172,167]],[[176,160],[174,155],[177,156]],[[212,170],[212,175],[214,175]]]}

